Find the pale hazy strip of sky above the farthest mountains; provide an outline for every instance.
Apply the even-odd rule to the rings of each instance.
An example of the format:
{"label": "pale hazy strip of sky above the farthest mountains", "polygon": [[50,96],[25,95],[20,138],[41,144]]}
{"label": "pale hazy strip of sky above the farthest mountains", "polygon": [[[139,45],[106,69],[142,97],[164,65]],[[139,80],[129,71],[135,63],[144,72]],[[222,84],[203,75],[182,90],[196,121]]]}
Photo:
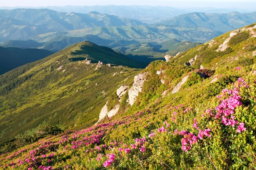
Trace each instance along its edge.
{"label": "pale hazy strip of sky above the farthest mountains", "polygon": [[[256,0],[0,0],[0,7],[65,5],[151,5],[170,7],[256,8]],[[242,2],[241,2],[242,1]]]}

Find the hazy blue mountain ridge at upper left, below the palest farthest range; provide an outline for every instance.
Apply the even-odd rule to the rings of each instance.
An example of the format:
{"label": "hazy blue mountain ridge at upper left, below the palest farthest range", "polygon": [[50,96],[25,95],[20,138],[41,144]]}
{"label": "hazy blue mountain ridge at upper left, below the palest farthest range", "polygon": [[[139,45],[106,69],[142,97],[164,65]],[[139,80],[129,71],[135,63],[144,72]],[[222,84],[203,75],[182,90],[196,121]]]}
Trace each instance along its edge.
{"label": "hazy blue mountain ridge at upper left, below the palest farthest range", "polygon": [[101,13],[63,13],[49,9],[0,10],[0,41],[24,40],[52,31],[89,27],[144,25],[137,20]]}

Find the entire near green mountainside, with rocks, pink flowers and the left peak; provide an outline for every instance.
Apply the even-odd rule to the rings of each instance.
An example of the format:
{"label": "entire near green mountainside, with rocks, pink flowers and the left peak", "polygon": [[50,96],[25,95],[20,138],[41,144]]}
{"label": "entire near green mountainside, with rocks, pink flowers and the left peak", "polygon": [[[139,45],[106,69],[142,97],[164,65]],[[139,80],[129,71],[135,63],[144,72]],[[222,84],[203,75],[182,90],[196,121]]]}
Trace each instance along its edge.
{"label": "entire near green mountainside, with rocks, pink flowers and the left peak", "polygon": [[2,143],[0,167],[255,169],[255,42],[253,24],[145,69],[72,62],[98,47],[83,42],[4,74],[2,139],[28,131]]}

